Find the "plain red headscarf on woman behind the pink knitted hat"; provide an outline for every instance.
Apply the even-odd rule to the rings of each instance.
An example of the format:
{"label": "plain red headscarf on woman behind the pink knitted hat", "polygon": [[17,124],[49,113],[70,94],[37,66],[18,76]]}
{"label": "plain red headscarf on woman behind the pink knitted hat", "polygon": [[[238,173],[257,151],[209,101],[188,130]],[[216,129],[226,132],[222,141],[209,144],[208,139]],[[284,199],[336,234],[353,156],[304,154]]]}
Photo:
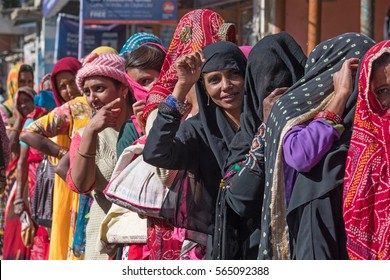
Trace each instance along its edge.
{"label": "plain red headscarf on woman behind the pink knitted hat", "polygon": [[77,71],[81,68],[81,63],[74,57],[64,57],[57,61],[51,71],[51,87],[56,101],[57,107],[64,104],[66,101],[62,98],[56,87],[56,75],[62,71],[69,71],[76,77]]}

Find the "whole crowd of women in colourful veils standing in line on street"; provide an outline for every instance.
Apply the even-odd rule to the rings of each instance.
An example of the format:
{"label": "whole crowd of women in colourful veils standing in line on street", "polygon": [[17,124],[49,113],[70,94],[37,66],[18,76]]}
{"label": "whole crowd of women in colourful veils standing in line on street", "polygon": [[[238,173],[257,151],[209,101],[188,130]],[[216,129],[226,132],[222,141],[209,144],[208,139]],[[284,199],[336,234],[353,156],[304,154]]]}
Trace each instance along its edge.
{"label": "whole crowd of women in colourful veils standing in line on street", "polygon": [[[390,41],[346,33],[306,57],[285,32],[235,38],[194,10],[167,50],[139,33],[120,54],[58,61],[54,109],[19,82],[2,110],[3,258],[389,259]],[[167,188],[159,217],[104,194],[134,143]],[[39,255],[19,216],[45,155],[56,175]]]}

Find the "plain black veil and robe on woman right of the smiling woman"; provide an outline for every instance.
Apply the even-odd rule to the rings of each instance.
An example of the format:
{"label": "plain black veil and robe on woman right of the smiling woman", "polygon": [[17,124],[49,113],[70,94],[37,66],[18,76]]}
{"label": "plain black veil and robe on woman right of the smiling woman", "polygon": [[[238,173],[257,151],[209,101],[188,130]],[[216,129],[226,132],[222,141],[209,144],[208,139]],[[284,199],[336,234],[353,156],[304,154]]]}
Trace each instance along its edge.
{"label": "plain black veil and robe on woman right of the smiling woman", "polygon": [[[263,99],[274,89],[289,87],[304,73],[306,56],[286,32],[261,39],[251,50],[245,76],[245,96],[240,129],[229,145],[226,172],[245,159],[255,132],[263,119]],[[220,189],[216,229],[215,259],[254,259],[264,190],[264,171],[260,164],[240,171],[229,179],[229,188]],[[252,237],[250,237],[252,235]],[[219,246],[218,246],[219,245]]]}

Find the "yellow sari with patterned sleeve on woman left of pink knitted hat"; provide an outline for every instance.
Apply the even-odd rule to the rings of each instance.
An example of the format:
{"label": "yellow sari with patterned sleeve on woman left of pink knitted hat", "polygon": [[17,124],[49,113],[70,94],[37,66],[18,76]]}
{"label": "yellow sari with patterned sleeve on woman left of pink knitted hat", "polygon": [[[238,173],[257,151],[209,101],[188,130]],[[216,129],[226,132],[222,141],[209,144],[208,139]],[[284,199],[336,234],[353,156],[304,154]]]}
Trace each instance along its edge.
{"label": "yellow sari with patterned sleeve on woman left of pink knitted hat", "polygon": [[[86,126],[91,109],[85,97],[80,96],[53,109],[34,121],[24,131],[38,133],[47,138],[56,137],[58,145],[69,149],[73,135]],[[57,164],[58,160],[54,164]],[[70,190],[57,174],[54,178],[53,214],[50,235],[49,260],[82,259],[71,251],[79,194]]]}

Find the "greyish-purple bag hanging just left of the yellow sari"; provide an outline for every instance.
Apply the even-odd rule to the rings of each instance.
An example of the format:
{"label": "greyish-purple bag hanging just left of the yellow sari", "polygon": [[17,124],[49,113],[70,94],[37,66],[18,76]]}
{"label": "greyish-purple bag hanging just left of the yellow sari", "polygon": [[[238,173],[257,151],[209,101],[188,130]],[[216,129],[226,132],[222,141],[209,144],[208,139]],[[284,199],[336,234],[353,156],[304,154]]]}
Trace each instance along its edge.
{"label": "greyish-purple bag hanging just left of the yellow sari", "polygon": [[39,163],[36,177],[31,201],[31,218],[38,225],[50,228],[53,212],[54,166],[48,157]]}

